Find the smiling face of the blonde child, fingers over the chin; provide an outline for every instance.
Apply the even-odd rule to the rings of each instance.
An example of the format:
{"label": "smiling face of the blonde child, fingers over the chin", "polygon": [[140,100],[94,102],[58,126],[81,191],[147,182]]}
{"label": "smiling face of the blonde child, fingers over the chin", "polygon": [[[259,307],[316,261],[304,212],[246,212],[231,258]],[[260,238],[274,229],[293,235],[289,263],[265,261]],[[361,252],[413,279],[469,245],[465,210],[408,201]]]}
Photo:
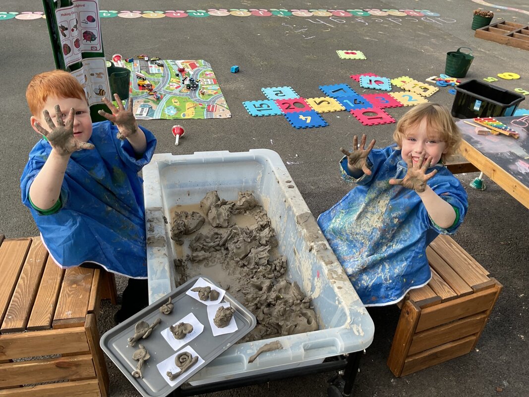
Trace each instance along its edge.
{"label": "smiling face of the blonde child, fingers over the chin", "polygon": [[443,153],[448,150],[446,142],[441,141],[439,137],[428,137],[428,124],[426,119],[420,123],[412,125],[405,131],[405,137],[402,141],[401,156],[407,160],[409,156],[412,157],[413,165],[417,165],[419,158],[424,154],[426,159],[428,156],[432,157],[432,164],[439,163]]}

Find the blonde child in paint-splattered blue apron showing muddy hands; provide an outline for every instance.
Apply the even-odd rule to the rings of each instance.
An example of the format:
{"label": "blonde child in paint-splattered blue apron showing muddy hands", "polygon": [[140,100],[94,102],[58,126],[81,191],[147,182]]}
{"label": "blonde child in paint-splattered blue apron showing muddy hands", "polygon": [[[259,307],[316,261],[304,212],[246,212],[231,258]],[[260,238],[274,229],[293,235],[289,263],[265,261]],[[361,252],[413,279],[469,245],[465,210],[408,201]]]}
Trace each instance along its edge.
{"label": "blonde child in paint-splattered blue apron showing muddy hands", "polygon": [[467,193],[442,161],[461,133],[446,107],[413,107],[397,123],[396,145],[367,149],[353,138],[340,161],[353,188],[318,217],[336,256],[366,306],[398,302],[430,281],[426,247],[453,234],[467,212]]}

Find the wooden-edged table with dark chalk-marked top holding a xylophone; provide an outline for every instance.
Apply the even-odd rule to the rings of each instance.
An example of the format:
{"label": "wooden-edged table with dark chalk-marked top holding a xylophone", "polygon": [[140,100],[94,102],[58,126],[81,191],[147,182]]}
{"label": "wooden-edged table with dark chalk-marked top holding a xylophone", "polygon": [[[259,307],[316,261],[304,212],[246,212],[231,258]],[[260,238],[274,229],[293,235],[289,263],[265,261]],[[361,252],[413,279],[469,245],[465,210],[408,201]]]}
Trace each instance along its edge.
{"label": "wooden-edged table with dark chalk-marked top holding a xylophone", "polygon": [[[498,117],[520,134],[518,139],[499,135],[478,135],[475,127],[460,120],[458,127],[463,133],[461,154],[492,181],[529,208],[529,127],[519,127],[511,121],[522,116]],[[529,122],[529,120],[527,120]],[[522,122],[523,124],[523,122]]]}

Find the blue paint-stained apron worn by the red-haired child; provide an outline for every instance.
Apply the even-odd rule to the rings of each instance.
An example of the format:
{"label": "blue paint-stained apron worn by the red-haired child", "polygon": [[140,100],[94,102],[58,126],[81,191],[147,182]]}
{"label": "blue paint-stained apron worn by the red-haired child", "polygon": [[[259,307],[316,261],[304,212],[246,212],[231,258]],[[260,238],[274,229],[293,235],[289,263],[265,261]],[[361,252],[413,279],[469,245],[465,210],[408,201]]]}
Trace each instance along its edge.
{"label": "blue paint-stained apron worn by the red-haired child", "polygon": [[31,150],[21,177],[22,202],[59,266],[91,261],[129,277],[147,276],[143,181],[138,172],[151,160],[156,138],[141,129],[147,150],[137,159],[130,143],[116,138],[112,123],[94,123],[89,142],[95,149],[71,155],[61,186],[62,207],[51,215],[41,215],[29,201],[31,183],[51,146],[40,140]]}

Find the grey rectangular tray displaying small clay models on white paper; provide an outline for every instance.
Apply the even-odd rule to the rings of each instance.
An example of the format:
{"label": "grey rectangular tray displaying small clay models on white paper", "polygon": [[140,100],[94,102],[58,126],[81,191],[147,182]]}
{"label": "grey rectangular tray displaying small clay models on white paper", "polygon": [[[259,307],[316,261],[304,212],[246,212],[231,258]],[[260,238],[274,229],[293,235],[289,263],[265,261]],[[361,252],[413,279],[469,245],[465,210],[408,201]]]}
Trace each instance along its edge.
{"label": "grey rectangular tray displaying small clay models on white paper", "polygon": [[[193,287],[199,277],[217,286],[210,278],[204,276],[194,277],[158,301],[152,303],[147,308],[136,313],[133,317],[108,330],[101,338],[100,344],[103,351],[144,397],[168,395],[189,377],[197,373],[200,368],[206,366],[211,360],[223,353],[223,351],[232,346],[256,326],[256,318],[254,315],[226,292],[222,302],[229,302],[235,309],[233,317],[235,318],[238,330],[214,337],[207,318],[207,305],[186,294],[186,291]],[[167,302],[169,296],[175,307],[169,315],[162,314],[158,308]],[[163,338],[161,331],[184,318],[189,313],[195,314],[197,320],[203,324],[204,330],[184,347],[192,347],[204,359],[204,363],[190,369],[185,373],[185,376],[178,380],[176,385],[171,386],[158,372],[158,368],[156,367],[158,363],[176,353]],[[152,334],[147,339],[140,339],[134,347],[129,347],[127,339],[134,335],[136,322],[144,320],[152,324],[157,318],[160,318],[161,322],[154,328]],[[138,364],[132,358],[132,354],[138,349],[139,344],[145,346],[151,355],[141,369],[143,379],[135,378],[131,375],[136,364]]]}

